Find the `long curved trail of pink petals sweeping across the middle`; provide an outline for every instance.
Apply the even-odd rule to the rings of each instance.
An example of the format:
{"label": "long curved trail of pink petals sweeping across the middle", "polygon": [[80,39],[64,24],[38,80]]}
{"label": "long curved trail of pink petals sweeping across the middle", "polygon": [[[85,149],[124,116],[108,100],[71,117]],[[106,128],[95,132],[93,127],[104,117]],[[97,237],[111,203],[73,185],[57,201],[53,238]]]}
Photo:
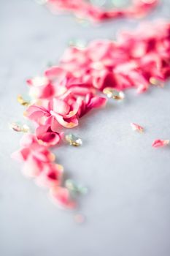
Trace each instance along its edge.
{"label": "long curved trail of pink petals sweeping across the middle", "polygon": [[34,135],[25,135],[13,157],[23,161],[23,173],[50,189],[60,206],[75,206],[62,185],[63,168],[54,163],[51,146],[58,146],[66,129],[77,127],[80,118],[93,108],[103,107],[104,88],[150,86],[150,78],[165,81],[170,76],[170,24],[145,23],[135,32],[123,32],[117,42],[97,40],[86,48],[68,48],[58,66],[45,70],[42,77],[29,79],[34,104],[25,116],[34,121]]}

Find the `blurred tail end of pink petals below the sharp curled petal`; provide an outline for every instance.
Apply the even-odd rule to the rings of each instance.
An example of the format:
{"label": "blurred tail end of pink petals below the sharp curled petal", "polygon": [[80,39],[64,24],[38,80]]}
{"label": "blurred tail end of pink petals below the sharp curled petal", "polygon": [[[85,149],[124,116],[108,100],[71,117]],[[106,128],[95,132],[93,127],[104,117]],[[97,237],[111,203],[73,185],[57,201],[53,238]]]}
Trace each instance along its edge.
{"label": "blurred tail end of pink petals below the sharp curled petal", "polygon": [[74,200],[69,189],[62,187],[63,167],[54,162],[55,157],[48,148],[37,140],[35,135],[24,135],[20,141],[20,150],[12,158],[23,162],[22,172],[34,178],[37,185],[50,189],[50,195],[63,208],[74,208]]}

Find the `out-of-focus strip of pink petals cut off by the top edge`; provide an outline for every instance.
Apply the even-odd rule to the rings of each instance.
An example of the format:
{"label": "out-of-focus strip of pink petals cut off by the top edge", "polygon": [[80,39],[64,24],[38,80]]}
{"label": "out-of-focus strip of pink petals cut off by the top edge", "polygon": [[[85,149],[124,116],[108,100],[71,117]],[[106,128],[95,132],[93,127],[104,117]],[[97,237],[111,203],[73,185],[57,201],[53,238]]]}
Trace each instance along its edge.
{"label": "out-of-focus strip of pink petals cut off by the top edge", "polygon": [[52,11],[67,11],[79,18],[89,18],[98,22],[120,17],[140,18],[157,6],[158,2],[159,0],[134,0],[130,7],[113,7],[109,10],[94,6],[86,0],[47,0],[46,5]]}

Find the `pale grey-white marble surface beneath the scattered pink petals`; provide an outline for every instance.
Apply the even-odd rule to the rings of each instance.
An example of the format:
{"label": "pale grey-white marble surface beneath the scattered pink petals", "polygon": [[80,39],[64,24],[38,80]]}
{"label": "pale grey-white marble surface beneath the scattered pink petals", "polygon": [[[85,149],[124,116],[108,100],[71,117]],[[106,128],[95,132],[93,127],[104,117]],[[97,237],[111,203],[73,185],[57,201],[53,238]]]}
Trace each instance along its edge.
{"label": "pale grey-white marble surface beneath the scattered pink petals", "polygon": [[[31,0],[1,0],[0,6],[0,255],[169,256],[170,148],[151,147],[156,138],[170,138],[169,85],[140,96],[129,91],[122,104],[82,119],[74,131],[84,140],[81,148],[55,151],[68,175],[90,188],[80,200],[83,225],[55,208],[10,159],[21,135],[8,123],[22,118],[16,96],[27,92],[26,78],[57,61],[70,38],[112,38],[139,20],[83,28]],[[164,0],[147,20],[169,19],[169,7]],[[132,132],[131,121],[146,132]]]}

